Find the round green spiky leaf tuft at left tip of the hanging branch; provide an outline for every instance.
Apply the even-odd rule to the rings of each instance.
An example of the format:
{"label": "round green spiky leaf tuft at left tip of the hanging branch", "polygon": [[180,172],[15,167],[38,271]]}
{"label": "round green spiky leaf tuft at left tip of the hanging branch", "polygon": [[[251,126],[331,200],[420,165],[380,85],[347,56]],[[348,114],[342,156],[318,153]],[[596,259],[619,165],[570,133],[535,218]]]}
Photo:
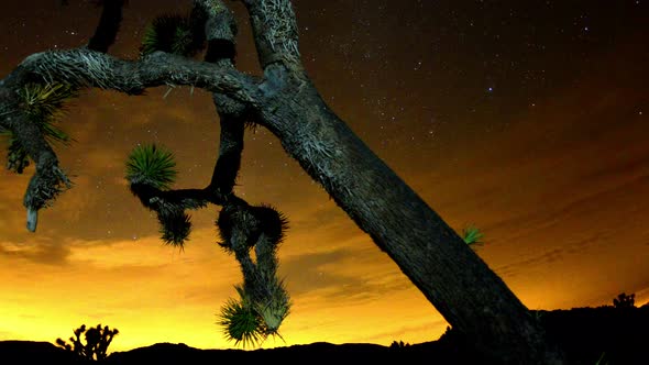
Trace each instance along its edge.
{"label": "round green spiky leaf tuft at left tip of the hanging branch", "polygon": [[155,144],[138,145],[127,161],[127,180],[167,190],[176,179],[174,154]]}

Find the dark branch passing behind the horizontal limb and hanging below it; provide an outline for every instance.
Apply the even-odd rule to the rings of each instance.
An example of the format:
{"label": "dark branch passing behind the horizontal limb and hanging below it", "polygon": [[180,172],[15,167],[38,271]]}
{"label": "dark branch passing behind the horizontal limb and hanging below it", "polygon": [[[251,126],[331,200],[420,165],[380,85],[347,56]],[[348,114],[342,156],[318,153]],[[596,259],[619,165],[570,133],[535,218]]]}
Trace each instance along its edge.
{"label": "dark branch passing behind the horizontal limb and hanging below it", "polygon": [[[206,40],[208,41],[206,62],[218,66],[220,70],[234,71],[237,26],[234,18],[228,8],[221,1],[196,1],[191,21],[195,24],[201,21],[206,24]],[[226,52],[216,49],[223,46],[226,46]],[[283,220],[274,219],[274,217],[280,217],[280,214],[272,208],[252,207],[232,192],[241,166],[245,121],[251,114],[250,103],[219,92],[213,92],[212,99],[220,117],[221,135],[219,156],[210,184],[205,189],[162,191],[144,184],[132,182],[131,191],[140,198],[144,207],[157,212],[158,221],[163,225],[163,239],[169,243],[182,245],[187,237],[190,223],[188,215],[185,213],[186,209],[202,208],[208,202],[211,202],[223,206],[221,215],[231,217],[233,210],[240,212],[234,215],[241,219],[229,219],[229,221],[232,222],[231,226],[237,232],[242,232],[242,237],[233,239],[228,233],[231,231],[222,232],[223,236],[228,236],[224,242],[232,243],[243,240],[254,245],[255,242],[262,240],[258,237],[261,234],[260,228],[266,226],[270,228],[271,232],[279,232],[275,235],[268,235],[271,240],[275,240],[274,244],[276,244],[280,239],[280,232],[285,228]],[[255,211],[265,212],[268,210],[272,210],[274,214],[254,213]],[[268,237],[261,242],[266,242]],[[271,257],[266,261],[274,262],[272,252],[264,253],[264,257],[268,255]],[[268,273],[274,273],[273,265],[265,266],[273,268],[268,269]]]}

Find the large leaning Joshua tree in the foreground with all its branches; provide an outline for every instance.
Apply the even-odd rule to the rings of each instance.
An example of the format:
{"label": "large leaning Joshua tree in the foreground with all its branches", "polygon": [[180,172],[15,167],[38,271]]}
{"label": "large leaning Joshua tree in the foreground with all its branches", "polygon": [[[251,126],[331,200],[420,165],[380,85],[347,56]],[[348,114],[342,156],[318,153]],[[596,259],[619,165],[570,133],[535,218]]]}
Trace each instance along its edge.
{"label": "large leaning Joshua tree in the foreground with all its branches", "polygon": [[[10,159],[20,162],[9,167],[20,173],[15,166],[28,158],[35,163],[24,196],[28,229],[35,231],[38,210],[51,204],[70,181],[51,147],[50,130],[34,120],[21,90],[62,85],[75,92],[101,88],[138,96],[162,85],[202,88],[213,95],[221,126],[219,156],[209,185],[166,190],[161,189],[164,185],[130,178],[131,190],[158,213],[163,232],[170,233],[164,240],[174,244],[184,241],[190,228],[186,210],[208,203],[221,206],[219,221],[229,220],[226,226],[231,230],[218,225],[226,245],[240,258],[244,275],[257,275],[265,267],[260,257],[250,265],[238,245],[270,250],[256,245],[280,226],[266,223],[271,214],[255,214],[258,207],[232,191],[245,125],[262,126],[485,358],[502,364],[563,364],[562,352],[547,341],[541,325],[507,285],[327,106],[301,64],[292,2],[242,2],[263,70],[258,76],[234,67],[237,23],[221,0],[195,0],[186,18],[158,18],[146,32],[138,59],[108,55],[123,3],[116,0],[103,1],[101,21],[87,45],[33,54],[0,81],[0,128],[12,139]],[[204,46],[204,59],[198,60]],[[268,233],[268,226],[273,232]],[[258,307],[257,292],[266,292],[268,299],[277,292],[274,288],[280,287],[277,280],[249,276],[241,287],[244,305],[248,300]],[[256,283],[268,287],[258,290]],[[277,311],[270,318],[282,316]]]}

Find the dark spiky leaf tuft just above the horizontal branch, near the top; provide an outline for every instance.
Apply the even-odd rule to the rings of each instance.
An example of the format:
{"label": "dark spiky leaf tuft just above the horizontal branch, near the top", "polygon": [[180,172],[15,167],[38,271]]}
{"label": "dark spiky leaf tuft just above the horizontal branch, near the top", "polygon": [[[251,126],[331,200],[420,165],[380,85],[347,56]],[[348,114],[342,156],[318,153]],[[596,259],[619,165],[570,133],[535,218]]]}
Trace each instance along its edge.
{"label": "dark spiky leaf tuft just above the horizontal branch, near the top", "polygon": [[144,31],[140,52],[142,56],[163,51],[191,57],[205,47],[204,34],[195,30],[196,25],[189,16],[160,15]]}

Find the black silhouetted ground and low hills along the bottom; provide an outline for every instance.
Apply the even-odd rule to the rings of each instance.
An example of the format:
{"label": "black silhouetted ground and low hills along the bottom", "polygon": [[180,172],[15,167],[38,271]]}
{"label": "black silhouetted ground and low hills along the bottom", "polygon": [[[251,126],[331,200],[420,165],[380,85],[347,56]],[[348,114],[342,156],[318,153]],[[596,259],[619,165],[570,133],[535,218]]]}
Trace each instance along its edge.
{"label": "black silhouetted ground and low hills along the bottom", "polygon": [[[575,308],[536,311],[549,335],[562,344],[574,364],[649,364],[649,306],[636,308]],[[470,347],[451,332],[418,344],[382,346],[367,343],[318,342],[268,350],[199,350],[185,344],[157,343],[110,354],[105,364],[476,364]],[[79,364],[48,342],[0,341],[0,364]],[[521,364],[524,365],[524,364]]]}

